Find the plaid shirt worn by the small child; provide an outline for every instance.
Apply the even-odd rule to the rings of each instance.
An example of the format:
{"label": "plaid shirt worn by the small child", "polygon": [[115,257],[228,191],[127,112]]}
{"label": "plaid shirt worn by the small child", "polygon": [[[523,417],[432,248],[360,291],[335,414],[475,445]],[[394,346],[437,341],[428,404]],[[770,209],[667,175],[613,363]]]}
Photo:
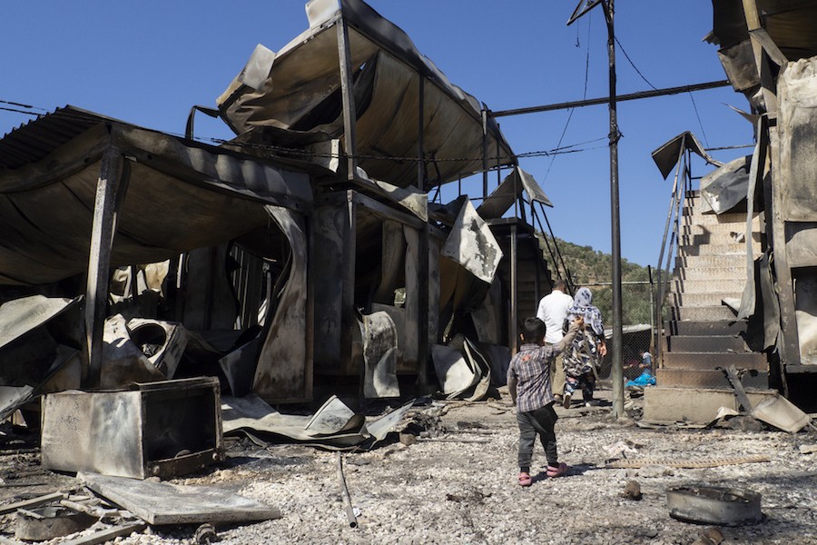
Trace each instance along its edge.
{"label": "plaid shirt worn by the small child", "polygon": [[518,381],[517,411],[536,411],[553,402],[550,366],[561,352],[558,346],[523,344],[511,360],[507,368],[507,381]]}

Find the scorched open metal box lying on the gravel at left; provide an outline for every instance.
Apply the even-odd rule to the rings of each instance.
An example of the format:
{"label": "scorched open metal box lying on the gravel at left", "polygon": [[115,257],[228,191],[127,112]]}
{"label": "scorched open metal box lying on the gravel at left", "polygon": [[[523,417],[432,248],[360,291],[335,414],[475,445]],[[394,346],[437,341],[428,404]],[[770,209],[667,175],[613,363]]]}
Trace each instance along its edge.
{"label": "scorched open metal box lying on the gravel at left", "polygon": [[43,466],[146,479],[171,478],[223,459],[217,379],[136,388],[45,395]]}

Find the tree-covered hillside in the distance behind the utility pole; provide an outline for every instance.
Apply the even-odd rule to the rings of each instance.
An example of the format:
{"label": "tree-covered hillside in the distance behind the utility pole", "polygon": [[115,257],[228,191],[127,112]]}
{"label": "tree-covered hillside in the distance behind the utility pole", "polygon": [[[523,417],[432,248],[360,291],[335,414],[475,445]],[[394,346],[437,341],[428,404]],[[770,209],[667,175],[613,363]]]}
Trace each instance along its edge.
{"label": "tree-covered hillside in the distance behind the utility pole", "polygon": [[[540,234],[541,237],[541,234]],[[571,283],[579,287],[587,287],[593,292],[593,304],[604,315],[605,325],[612,324],[613,295],[610,288],[610,271],[612,257],[609,253],[599,252],[590,246],[579,246],[556,238],[556,246],[561,254],[565,266],[561,263],[556,266],[554,256],[556,247],[551,237],[546,241],[540,238],[539,246],[547,261],[553,278],[566,275],[565,267],[569,272]],[[551,255],[554,253],[554,255]],[[622,279],[622,324],[650,323],[650,272],[647,267],[621,260]],[[654,281],[657,280],[654,278]],[[643,282],[643,283],[629,283]],[[654,287],[657,290],[657,285]]]}

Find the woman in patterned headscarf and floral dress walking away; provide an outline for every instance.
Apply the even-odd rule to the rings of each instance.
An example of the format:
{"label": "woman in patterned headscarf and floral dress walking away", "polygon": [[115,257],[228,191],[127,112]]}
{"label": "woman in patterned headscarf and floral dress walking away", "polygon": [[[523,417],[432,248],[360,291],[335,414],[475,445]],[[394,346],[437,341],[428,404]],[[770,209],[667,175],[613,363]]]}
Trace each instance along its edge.
{"label": "woman in patterned headscarf and floral dress walking away", "polygon": [[571,345],[565,352],[566,385],[563,403],[570,407],[573,393],[581,388],[586,403],[593,401],[596,390],[596,373],[601,359],[607,353],[605,344],[605,325],[601,311],[593,302],[593,293],[587,288],[580,288],[573,297],[573,305],[567,309],[565,323],[576,320],[577,316],[585,319],[585,327],[576,333]]}

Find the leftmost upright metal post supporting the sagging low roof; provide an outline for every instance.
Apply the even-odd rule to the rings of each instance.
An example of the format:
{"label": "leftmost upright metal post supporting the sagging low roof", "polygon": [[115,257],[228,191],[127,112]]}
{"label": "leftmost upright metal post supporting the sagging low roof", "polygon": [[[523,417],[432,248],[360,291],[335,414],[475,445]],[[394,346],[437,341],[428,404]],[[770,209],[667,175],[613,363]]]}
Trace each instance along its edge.
{"label": "leftmost upright metal post supporting the sagging low roof", "polygon": [[[88,283],[85,288],[85,346],[82,385],[98,388],[103,363],[103,333],[108,302],[109,269],[116,233],[116,214],[127,190],[130,169],[119,150],[109,146],[102,156],[96,183],[91,249],[88,256]],[[122,172],[120,172],[122,171]]]}

